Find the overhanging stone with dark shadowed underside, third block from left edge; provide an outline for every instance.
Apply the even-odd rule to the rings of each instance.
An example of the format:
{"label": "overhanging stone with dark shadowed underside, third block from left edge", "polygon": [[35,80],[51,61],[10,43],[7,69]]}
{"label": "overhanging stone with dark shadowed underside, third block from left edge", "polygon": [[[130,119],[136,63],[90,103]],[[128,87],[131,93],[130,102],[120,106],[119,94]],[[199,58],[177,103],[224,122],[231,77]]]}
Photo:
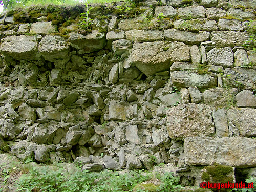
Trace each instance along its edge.
{"label": "overhanging stone with dark shadowed underside, third block from left edge", "polygon": [[92,33],[82,35],[76,32],[70,33],[69,41],[71,46],[83,50],[84,53],[91,53],[99,51],[105,46],[105,34],[100,33],[97,30],[93,30]]}

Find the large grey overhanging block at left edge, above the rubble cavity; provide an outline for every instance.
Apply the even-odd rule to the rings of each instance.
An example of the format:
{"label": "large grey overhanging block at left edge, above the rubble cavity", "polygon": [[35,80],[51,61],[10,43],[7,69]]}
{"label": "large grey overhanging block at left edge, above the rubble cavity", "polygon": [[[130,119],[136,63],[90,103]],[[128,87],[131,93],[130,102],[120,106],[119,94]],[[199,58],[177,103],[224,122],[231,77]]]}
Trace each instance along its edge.
{"label": "large grey overhanging block at left edge, above the rubble cavity", "polygon": [[9,55],[17,60],[36,60],[38,42],[35,36],[10,36],[1,39],[2,53]]}

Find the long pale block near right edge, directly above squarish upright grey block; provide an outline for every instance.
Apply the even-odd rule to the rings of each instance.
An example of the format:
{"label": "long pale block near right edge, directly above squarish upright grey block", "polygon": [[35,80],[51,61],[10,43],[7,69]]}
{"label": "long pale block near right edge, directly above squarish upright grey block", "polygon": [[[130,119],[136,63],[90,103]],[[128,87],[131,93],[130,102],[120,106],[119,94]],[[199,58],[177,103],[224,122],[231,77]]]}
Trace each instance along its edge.
{"label": "long pale block near right edge, directly above squarish upright grey block", "polygon": [[217,47],[242,46],[249,38],[246,32],[240,31],[214,31],[210,34],[211,41]]}

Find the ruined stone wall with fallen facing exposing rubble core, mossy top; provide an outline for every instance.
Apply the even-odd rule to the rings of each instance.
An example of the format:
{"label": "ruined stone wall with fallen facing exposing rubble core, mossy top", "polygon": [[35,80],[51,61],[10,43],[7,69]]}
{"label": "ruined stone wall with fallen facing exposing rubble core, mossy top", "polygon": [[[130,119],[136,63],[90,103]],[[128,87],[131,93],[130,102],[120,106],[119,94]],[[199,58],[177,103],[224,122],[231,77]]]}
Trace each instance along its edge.
{"label": "ruined stone wall with fallen facing exposing rubble core, mossy top", "polygon": [[91,170],[165,164],[187,185],[214,163],[255,176],[256,54],[243,47],[255,0],[90,7],[87,26],[82,5],[2,14],[2,153]]}

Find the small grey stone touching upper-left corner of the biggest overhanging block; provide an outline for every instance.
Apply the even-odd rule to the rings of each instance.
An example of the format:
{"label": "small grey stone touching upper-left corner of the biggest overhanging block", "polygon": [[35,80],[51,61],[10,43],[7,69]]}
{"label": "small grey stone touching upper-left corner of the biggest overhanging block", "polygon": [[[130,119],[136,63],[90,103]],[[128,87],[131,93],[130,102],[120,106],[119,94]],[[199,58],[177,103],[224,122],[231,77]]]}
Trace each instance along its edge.
{"label": "small grey stone touching upper-left corner of the biggest overhanging block", "polygon": [[116,55],[128,54],[132,46],[131,40],[119,39],[112,42],[112,50]]}

